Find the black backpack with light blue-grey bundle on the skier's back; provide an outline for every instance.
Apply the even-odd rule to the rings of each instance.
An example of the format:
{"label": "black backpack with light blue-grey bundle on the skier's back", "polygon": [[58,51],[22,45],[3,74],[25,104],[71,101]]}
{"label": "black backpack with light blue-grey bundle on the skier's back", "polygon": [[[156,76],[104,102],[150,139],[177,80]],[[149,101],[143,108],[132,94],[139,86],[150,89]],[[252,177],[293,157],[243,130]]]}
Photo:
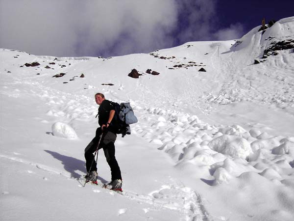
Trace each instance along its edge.
{"label": "black backpack with light blue-grey bundle on the skier's back", "polygon": [[115,114],[113,116],[111,126],[115,130],[116,134],[122,134],[124,137],[126,134],[131,134],[130,124],[138,122],[137,117],[130,103],[121,103],[110,101],[114,107]]}

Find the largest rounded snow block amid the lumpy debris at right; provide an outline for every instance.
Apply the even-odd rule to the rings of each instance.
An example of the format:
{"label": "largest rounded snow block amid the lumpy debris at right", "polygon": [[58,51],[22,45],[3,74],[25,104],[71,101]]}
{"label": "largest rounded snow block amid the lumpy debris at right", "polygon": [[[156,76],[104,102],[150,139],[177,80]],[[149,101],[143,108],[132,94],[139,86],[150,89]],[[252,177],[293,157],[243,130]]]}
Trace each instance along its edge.
{"label": "largest rounded snow block amid the lumpy debris at right", "polygon": [[252,153],[250,143],[246,139],[232,135],[215,138],[208,146],[219,153],[242,159],[246,159]]}

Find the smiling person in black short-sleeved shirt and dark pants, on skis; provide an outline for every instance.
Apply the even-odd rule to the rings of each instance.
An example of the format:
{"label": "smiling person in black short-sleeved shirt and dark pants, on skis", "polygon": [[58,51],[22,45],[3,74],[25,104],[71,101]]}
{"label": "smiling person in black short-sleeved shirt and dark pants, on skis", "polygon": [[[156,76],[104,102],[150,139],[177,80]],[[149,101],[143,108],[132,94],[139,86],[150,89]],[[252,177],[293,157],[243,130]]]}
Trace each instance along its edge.
{"label": "smiling person in black short-sleeved shirt and dark pants, on skis", "polygon": [[[89,175],[86,177],[87,180],[96,182],[97,181],[97,162],[94,159],[94,152],[98,146],[100,136],[100,144],[98,149],[103,148],[106,161],[110,166],[111,170],[111,182],[105,184],[104,187],[112,190],[122,190],[122,175],[121,169],[115,158],[115,146],[116,133],[114,129],[114,122],[112,122],[115,109],[110,101],[106,100],[104,95],[101,93],[95,94],[95,101],[99,105],[98,109],[98,124],[99,128],[96,130],[96,136],[85,148],[85,159],[86,167]],[[93,164],[92,164],[93,162]]]}

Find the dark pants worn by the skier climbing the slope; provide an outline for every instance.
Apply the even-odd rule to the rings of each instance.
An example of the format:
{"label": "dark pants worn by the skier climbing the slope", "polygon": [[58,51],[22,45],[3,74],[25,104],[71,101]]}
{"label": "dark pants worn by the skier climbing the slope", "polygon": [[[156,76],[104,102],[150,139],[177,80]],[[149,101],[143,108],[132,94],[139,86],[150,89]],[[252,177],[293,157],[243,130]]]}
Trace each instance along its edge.
{"label": "dark pants worn by the skier climbing the slope", "polygon": [[[93,153],[96,151],[101,134],[102,134],[102,130],[99,127],[96,130],[95,138],[93,138],[92,141],[85,148],[85,159],[86,159],[86,167],[88,172],[97,171],[97,162],[94,159]],[[98,149],[103,148],[106,161],[108,165],[110,166],[111,180],[122,179],[121,169],[115,158],[115,146],[114,146],[115,139],[116,139],[115,134],[111,132],[104,132],[98,147]]]}

